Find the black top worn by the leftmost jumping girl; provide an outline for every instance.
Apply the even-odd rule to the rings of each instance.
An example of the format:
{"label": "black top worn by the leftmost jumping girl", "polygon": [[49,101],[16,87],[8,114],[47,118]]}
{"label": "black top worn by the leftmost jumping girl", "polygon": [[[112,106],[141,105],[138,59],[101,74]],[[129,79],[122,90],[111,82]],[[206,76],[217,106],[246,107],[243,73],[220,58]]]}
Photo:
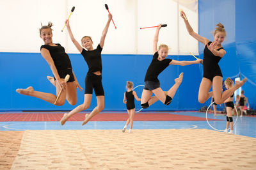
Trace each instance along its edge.
{"label": "black top worn by the leftmost jumping girl", "polygon": [[58,46],[42,45],[40,50],[42,50],[42,48],[49,50],[57,70],[72,68],[70,59],[68,54],[65,52],[64,47],[62,47],[60,43],[56,43],[56,45]]}

